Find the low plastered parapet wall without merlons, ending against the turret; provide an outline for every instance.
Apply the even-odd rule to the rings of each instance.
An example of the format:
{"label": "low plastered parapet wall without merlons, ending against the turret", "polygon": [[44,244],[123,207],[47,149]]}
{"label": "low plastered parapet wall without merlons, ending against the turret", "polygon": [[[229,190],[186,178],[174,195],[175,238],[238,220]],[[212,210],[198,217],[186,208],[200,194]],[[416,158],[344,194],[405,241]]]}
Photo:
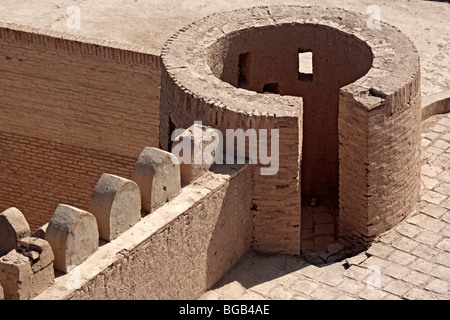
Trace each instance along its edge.
{"label": "low plastered parapet wall without merlons, ending against the turret", "polygon": [[251,174],[212,168],[35,299],[198,298],[251,248]]}

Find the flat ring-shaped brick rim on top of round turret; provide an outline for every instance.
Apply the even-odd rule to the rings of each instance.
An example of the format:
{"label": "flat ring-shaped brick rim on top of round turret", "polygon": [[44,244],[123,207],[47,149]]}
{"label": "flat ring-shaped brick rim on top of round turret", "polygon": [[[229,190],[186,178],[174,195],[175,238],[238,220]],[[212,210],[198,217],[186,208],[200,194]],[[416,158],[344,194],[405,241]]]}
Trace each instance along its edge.
{"label": "flat ring-shaped brick rim on top of round turret", "polygon": [[296,116],[301,98],[235,88],[213,74],[208,60],[213,45],[226,43],[236,34],[304,25],[329,29],[330,34],[338,32],[344,37],[354,37],[369,47],[372,67],[364,76],[341,89],[341,92],[353,95],[366,110],[380,105],[419,72],[419,55],[414,44],[396,27],[381,22],[381,29],[369,28],[367,16],[359,13],[295,5],[240,9],[195,21],[167,40],[161,55],[163,68],[182,90],[209,103],[242,113]]}

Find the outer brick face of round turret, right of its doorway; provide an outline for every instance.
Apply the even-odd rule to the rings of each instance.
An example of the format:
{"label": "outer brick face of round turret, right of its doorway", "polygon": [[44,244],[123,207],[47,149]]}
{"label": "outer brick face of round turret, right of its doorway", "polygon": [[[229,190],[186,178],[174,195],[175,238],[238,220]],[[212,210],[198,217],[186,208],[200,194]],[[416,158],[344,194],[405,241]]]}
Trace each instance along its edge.
{"label": "outer brick face of round turret, right of its doorway", "polygon": [[400,87],[387,83],[395,88],[389,95],[369,89],[352,96],[350,86],[341,91],[339,233],[353,243],[367,243],[395,226],[420,200],[418,56],[411,51],[398,59],[411,76]]}

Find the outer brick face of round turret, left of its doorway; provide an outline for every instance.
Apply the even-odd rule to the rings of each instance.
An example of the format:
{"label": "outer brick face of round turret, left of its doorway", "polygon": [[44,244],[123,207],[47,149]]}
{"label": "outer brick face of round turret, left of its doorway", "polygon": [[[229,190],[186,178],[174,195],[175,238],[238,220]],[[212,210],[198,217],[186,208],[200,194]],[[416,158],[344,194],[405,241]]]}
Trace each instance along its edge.
{"label": "outer brick face of round turret, left of its doorway", "polygon": [[[279,130],[279,170],[275,175],[261,175],[260,165],[251,165],[253,173],[253,248],[260,252],[297,254],[300,248],[299,217],[299,118],[301,98],[284,97],[275,101],[270,97],[263,103],[273,107],[267,113],[236,112],[211,99],[198,99],[168,76],[171,65],[162,66],[160,139],[168,148],[171,131],[188,128],[194,121],[221,130],[241,128]],[[174,66],[176,68],[176,66]],[[167,69],[166,69],[167,68]],[[273,98],[273,97],[272,97]],[[241,107],[245,105],[237,105]],[[230,105],[228,105],[230,106]],[[279,110],[277,116],[273,111]],[[301,123],[300,123],[301,125]],[[259,137],[258,137],[259,141]],[[226,141],[224,141],[224,146]],[[270,154],[270,144],[268,144]],[[248,146],[246,149],[248,155]],[[267,167],[267,166],[264,166]]]}

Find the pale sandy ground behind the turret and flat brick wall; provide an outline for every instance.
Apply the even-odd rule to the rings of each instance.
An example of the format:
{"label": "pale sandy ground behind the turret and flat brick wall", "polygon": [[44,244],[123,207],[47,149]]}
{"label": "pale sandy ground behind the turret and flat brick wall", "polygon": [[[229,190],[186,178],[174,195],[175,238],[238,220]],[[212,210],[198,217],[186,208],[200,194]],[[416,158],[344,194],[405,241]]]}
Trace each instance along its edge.
{"label": "pale sandy ground behind the turret and flat brick wall", "polygon": [[[159,53],[166,39],[191,21],[213,12],[256,5],[298,4],[341,7],[380,18],[413,40],[421,56],[422,93],[450,88],[450,4],[423,0],[0,0],[0,21],[81,34],[93,41],[139,45]],[[67,27],[67,8],[80,8],[81,28]],[[380,30],[383,32],[383,30]]]}

